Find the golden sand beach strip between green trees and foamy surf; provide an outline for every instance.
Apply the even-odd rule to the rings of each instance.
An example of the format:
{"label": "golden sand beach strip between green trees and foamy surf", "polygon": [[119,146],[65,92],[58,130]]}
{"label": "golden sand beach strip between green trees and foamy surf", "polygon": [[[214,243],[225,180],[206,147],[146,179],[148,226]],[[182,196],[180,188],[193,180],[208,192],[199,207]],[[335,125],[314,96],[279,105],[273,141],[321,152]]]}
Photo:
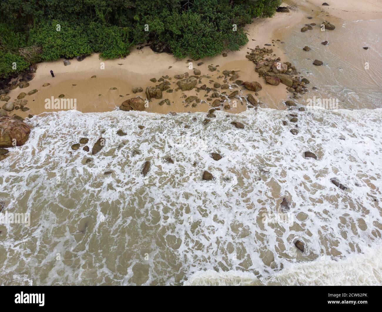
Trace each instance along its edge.
{"label": "golden sand beach strip between green trees and foamy surf", "polygon": [[[367,10],[374,10],[374,5],[382,0],[370,0]],[[290,3],[288,1],[288,3]],[[282,3],[282,6],[288,3]],[[28,102],[21,103],[23,106],[28,107],[29,110],[21,111],[21,109],[13,110],[8,113],[8,116],[17,114],[22,118],[29,115],[38,115],[50,111],[58,111],[58,109],[45,109],[45,99],[52,96],[57,98],[59,95],[64,95],[67,99],[76,99],[77,109],[83,113],[96,113],[107,112],[118,107],[124,101],[135,96],[141,96],[146,100],[146,87],[158,86],[160,80],[167,80],[171,90],[163,90],[162,97],[151,99],[145,111],[149,113],[167,114],[173,113],[207,113],[213,106],[211,103],[214,101],[214,96],[211,94],[204,94],[201,90],[201,85],[206,85],[206,88],[212,89],[212,93],[217,91],[218,95],[215,98],[227,99],[226,96],[230,95],[235,90],[239,94],[235,96],[238,100],[237,106],[231,104],[231,101],[225,101],[225,104],[231,104],[228,109],[224,109],[227,113],[240,113],[247,109],[248,102],[245,100],[244,94],[251,94],[258,102],[257,107],[262,108],[275,108],[285,109],[284,101],[293,100],[291,93],[286,90],[284,84],[270,85],[265,82],[258,73],[254,71],[256,64],[248,63],[246,56],[253,51],[258,45],[263,48],[265,44],[271,45],[275,57],[279,56],[281,62],[291,62],[286,56],[285,47],[283,47],[283,40],[290,35],[289,31],[296,25],[303,26],[307,21],[316,21],[316,19],[304,20],[307,17],[308,11],[312,11],[313,16],[320,16],[322,12],[329,13],[339,10],[340,7],[345,7],[346,1],[340,1],[333,8],[330,6],[321,6],[317,0],[301,0],[298,2],[296,11],[290,13],[277,12],[272,18],[254,19],[251,24],[244,27],[244,32],[247,33],[248,43],[241,47],[239,51],[230,51],[225,55],[218,55],[213,58],[204,58],[202,60],[178,60],[167,53],[155,53],[149,47],[138,49],[137,47],[131,50],[131,53],[123,59],[114,60],[100,60],[99,55],[94,53],[84,58],[79,62],[75,58],[70,60],[70,65],[64,66],[63,58],[53,62],[38,63],[34,79],[29,82],[26,88],[15,88],[8,93],[10,100],[8,102],[20,104],[21,101],[27,100]],[[314,10],[313,10],[314,8]],[[369,12],[367,11],[366,12]],[[352,11],[353,12],[353,11]],[[350,12],[351,13],[351,12]],[[349,14],[350,14],[349,13]],[[353,12],[354,13],[354,12]],[[374,12],[369,12],[374,16]],[[348,14],[348,15],[349,15]],[[365,15],[354,13],[353,19]],[[381,14],[380,14],[381,15]],[[333,16],[332,16],[333,17]],[[347,16],[349,18],[349,16]],[[337,18],[336,18],[337,19]],[[317,21],[316,21],[317,23]],[[316,26],[317,27],[317,26]],[[314,36],[314,34],[309,34]],[[302,56],[302,55],[301,55]],[[189,69],[190,62],[193,65]],[[202,63],[202,64],[200,64]],[[198,65],[200,64],[200,65]],[[294,64],[293,64],[294,65]],[[216,66],[215,71],[210,71],[209,66]],[[101,69],[103,67],[104,69]],[[50,76],[49,71],[53,70],[55,78]],[[194,69],[200,70],[200,74],[194,74]],[[230,75],[224,76],[222,72],[235,71],[238,75],[236,79],[241,81],[255,81],[259,82],[262,89],[258,92],[246,90],[240,85],[231,85],[230,88],[225,90],[216,90],[214,83],[218,85],[233,84],[234,81],[228,81]],[[301,75],[300,69],[296,68],[297,75]],[[177,90],[175,75],[185,74],[187,77],[197,77],[198,84],[195,88],[189,91]],[[96,76],[95,78],[92,78]],[[166,78],[167,77],[167,78]],[[156,82],[151,82],[152,78]],[[43,87],[44,84],[50,84]],[[134,87],[141,87],[142,92],[133,93]],[[311,85],[308,85],[311,88]],[[26,95],[23,99],[18,101],[18,95],[22,92],[28,93],[36,89],[37,92],[32,95]],[[170,92],[171,91],[171,92]],[[310,91],[311,92],[311,91]],[[196,98],[195,101],[185,102],[185,99]],[[159,105],[163,100],[167,100],[167,105]],[[6,102],[2,102],[1,106]],[[228,106],[227,106],[228,107]],[[223,109],[223,107],[222,107]]]}

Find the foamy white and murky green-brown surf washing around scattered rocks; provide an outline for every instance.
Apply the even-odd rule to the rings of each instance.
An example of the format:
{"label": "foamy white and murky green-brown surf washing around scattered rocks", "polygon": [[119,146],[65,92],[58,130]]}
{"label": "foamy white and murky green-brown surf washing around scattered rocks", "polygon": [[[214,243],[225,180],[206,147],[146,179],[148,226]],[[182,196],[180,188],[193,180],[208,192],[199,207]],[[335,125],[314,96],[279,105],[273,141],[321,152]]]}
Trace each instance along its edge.
{"label": "foamy white and murky green-brown surf washing around scattered rocks", "polygon": [[381,284],[382,109],[293,110],[298,135],[289,113],[35,116],[0,169],[4,211],[31,215],[0,225],[2,284]]}

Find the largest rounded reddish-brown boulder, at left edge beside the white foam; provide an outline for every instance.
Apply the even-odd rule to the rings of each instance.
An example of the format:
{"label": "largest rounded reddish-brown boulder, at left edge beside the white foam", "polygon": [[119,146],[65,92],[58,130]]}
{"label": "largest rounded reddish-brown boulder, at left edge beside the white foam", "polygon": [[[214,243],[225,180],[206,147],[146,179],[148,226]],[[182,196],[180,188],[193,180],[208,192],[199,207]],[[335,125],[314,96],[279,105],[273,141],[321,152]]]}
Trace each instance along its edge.
{"label": "largest rounded reddish-brown boulder, at left edge beside the white foam", "polygon": [[24,145],[31,128],[24,122],[10,116],[0,117],[0,147]]}

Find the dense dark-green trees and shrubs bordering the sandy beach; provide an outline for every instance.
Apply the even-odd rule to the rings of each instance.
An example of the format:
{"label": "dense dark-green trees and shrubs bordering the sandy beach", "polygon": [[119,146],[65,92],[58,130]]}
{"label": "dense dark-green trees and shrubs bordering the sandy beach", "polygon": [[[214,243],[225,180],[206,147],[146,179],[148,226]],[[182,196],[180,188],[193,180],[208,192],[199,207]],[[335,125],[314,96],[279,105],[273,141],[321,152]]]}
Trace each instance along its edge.
{"label": "dense dark-green trees and shrubs bordering the sandy beach", "polygon": [[[0,2],[0,50],[16,58],[21,47],[41,46],[37,61],[92,52],[106,59],[128,55],[132,45],[162,41],[176,57],[197,59],[238,50],[248,41],[243,26],[254,17],[272,16],[280,2],[7,0]],[[13,73],[0,66],[2,76]]]}

